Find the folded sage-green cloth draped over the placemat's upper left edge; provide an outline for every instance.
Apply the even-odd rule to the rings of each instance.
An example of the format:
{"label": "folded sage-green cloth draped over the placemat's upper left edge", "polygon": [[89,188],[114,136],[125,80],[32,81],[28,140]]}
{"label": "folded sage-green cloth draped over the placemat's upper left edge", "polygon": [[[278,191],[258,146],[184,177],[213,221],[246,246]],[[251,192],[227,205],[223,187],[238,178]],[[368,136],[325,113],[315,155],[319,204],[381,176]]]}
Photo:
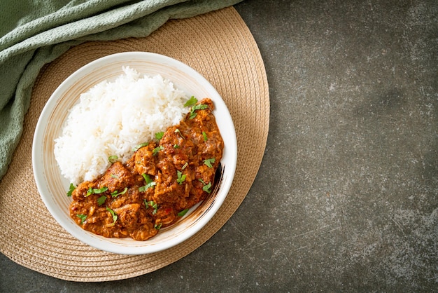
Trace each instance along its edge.
{"label": "folded sage-green cloth draped over the placemat's upper left edge", "polygon": [[240,1],[6,1],[0,10],[0,179],[20,141],[31,89],[44,64],[85,41],[148,36],[169,19]]}

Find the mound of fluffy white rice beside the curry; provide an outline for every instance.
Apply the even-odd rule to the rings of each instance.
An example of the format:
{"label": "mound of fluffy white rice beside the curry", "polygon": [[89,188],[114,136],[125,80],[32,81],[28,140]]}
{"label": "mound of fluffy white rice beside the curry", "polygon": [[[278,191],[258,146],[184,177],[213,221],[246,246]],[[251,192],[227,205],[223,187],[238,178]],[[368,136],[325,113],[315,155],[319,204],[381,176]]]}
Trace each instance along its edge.
{"label": "mound of fluffy white rice beside the curry", "polygon": [[62,135],[55,139],[55,158],[73,184],[93,180],[111,165],[109,156],[125,163],[132,148],[156,132],[178,124],[188,113],[188,97],[162,76],[143,76],[123,67],[124,74],[80,95],[69,112]]}

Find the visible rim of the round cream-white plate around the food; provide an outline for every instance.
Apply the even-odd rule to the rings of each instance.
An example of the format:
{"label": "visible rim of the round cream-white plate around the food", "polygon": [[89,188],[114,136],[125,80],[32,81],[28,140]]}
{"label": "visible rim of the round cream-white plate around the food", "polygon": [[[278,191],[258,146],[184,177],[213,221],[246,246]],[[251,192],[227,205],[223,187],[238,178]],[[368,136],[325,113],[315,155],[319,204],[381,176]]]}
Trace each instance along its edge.
{"label": "visible rim of the round cream-white plate around the food", "polygon": [[[141,74],[161,74],[189,97],[201,100],[210,97],[225,147],[220,161],[220,184],[203,203],[192,207],[176,224],[161,229],[157,236],[146,241],[131,238],[104,238],[83,230],[69,217],[71,198],[67,179],[62,177],[53,148],[55,138],[62,132],[62,125],[69,109],[78,102],[80,93],[104,80],[123,74],[122,67],[129,66]],[[92,247],[118,254],[147,254],[178,245],[197,233],[219,210],[231,187],[237,161],[237,143],[234,124],[225,102],[213,86],[197,71],[171,57],[146,52],[127,52],[108,55],[90,62],[75,71],[52,94],[38,119],[32,147],[32,163],[38,192],[52,216],[72,236]]]}

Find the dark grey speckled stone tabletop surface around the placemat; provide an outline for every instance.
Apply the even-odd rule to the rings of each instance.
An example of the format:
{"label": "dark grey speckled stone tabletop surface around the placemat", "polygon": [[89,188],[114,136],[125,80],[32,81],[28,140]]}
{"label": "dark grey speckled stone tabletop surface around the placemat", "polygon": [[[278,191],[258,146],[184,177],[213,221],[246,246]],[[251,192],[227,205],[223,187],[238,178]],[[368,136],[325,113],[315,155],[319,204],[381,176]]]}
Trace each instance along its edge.
{"label": "dark grey speckled stone tabletop surface around the placemat", "polygon": [[236,214],[138,278],[65,282],[0,256],[1,292],[437,292],[438,2],[235,6],[271,95]]}

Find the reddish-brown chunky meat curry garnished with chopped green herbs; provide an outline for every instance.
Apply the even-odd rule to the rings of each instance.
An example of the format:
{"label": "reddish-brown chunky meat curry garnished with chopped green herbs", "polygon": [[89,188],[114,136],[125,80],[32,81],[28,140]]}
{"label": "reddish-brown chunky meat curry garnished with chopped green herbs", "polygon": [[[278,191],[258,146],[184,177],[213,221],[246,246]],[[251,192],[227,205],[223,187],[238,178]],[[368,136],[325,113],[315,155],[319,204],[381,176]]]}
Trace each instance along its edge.
{"label": "reddish-brown chunky meat curry garnished with chopped green herbs", "polygon": [[209,98],[197,102],[127,163],[115,161],[97,179],[78,184],[70,217],[97,235],[134,240],[174,224],[213,189],[224,142],[212,111]]}

